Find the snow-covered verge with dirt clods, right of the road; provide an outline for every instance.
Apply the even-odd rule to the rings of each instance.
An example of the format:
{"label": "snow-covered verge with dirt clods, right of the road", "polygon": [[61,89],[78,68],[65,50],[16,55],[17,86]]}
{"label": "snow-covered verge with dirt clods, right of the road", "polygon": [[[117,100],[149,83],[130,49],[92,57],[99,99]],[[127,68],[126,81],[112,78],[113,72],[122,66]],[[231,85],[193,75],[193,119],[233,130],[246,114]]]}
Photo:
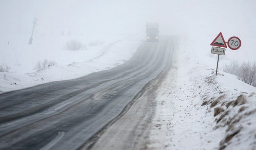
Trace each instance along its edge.
{"label": "snow-covered verge with dirt clods, right of the road", "polygon": [[192,53],[188,41],[158,90],[147,149],[256,149],[256,88],[222,71],[215,76],[217,55],[210,46]]}

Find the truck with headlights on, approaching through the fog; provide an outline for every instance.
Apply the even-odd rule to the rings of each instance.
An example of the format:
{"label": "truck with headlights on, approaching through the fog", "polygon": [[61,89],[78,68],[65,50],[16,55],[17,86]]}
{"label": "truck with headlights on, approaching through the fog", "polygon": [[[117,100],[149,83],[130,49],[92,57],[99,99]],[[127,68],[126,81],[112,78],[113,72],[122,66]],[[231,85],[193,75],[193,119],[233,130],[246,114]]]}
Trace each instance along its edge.
{"label": "truck with headlights on, approaching through the fog", "polygon": [[146,24],[146,38],[148,42],[158,41],[158,23],[147,23]]}

